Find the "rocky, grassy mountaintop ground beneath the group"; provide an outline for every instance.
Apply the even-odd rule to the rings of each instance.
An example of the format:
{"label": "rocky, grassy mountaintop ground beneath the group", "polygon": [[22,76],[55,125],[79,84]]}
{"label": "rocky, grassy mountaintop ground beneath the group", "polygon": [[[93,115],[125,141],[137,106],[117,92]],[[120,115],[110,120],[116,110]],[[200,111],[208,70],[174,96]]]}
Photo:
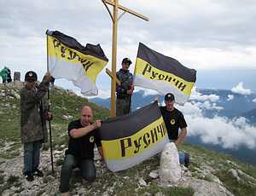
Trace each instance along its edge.
{"label": "rocky, grassy mountaintop ground beneath the group", "polygon": [[[64,89],[55,89],[52,122],[55,174],[51,173],[49,144],[42,148],[44,177],[26,182],[22,176],[23,152],[20,144],[19,89],[22,84],[0,85],[0,195],[54,195],[59,187],[61,164],[67,148],[67,124],[77,117],[79,105],[87,100]],[[90,103],[88,103],[90,104]],[[108,111],[91,104],[96,118],[108,118]],[[182,167],[177,184],[162,184],[160,157],[155,156],[129,170],[110,172],[96,152],[97,178],[82,180],[73,171],[71,195],[256,195],[256,168],[229,155],[183,144],[179,151],[190,154],[189,168]]]}

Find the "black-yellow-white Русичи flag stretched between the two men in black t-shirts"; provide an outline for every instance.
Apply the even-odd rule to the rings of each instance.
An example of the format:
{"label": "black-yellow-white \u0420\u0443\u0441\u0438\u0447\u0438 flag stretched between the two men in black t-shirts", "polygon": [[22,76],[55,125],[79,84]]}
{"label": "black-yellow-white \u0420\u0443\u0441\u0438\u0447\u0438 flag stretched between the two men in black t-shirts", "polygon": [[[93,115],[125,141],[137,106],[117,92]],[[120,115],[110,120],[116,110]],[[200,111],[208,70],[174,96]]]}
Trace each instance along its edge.
{"label": "black-yellow-white \u0420\u0443\u0441\u0438\u0447\u0438 flag stretched between the two men in black t-shirts", "polygon": [[111,171],[130,168],[160,153],[169,142],[157,102],[108,119],[100,128],[104,159]]}

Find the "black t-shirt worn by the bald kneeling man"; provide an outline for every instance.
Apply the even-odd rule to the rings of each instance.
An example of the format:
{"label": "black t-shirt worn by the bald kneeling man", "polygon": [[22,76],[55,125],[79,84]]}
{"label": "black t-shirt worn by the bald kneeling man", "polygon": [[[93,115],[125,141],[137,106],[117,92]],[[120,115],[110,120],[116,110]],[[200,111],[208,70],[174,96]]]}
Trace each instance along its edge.
{"label": "black t-shirt worn by the bald kneeling man", "polygon": [[93,159],[94,158],[94,146],[101,147],[102,143],[99,137],[99,130],[92,130],[87,135],[79,138],[73,138],[70,135],[70,131],[73,129],[79,129],[84,127],[80,119],[75,120],[68,124],[68,149],[66,154],[73,154],[78,159]]}

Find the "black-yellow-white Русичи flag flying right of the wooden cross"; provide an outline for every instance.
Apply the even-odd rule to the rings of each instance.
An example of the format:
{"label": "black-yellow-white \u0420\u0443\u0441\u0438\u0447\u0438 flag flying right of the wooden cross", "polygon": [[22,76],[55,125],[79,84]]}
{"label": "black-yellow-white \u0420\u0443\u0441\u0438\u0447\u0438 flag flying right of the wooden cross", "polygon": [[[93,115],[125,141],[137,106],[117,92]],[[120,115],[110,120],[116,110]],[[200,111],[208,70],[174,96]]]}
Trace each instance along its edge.
{"label": "black-yellow-white \u0420\u0443\u0441\u0438\u0447\u0438 flag flying right of the wooden cross", "polygon": [[196,71],[166,55],[139,43],[134,71],[134,85],[155,89],[161,94],[172,93],[175,101],[184,104],[195,84]]}

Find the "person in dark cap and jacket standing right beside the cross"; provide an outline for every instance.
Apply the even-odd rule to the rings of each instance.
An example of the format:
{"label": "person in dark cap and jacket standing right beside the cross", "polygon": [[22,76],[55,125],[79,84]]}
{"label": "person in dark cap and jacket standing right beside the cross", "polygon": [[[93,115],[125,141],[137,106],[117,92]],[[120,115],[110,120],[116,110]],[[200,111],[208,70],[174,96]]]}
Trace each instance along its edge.
{"label": "person in dark cap and jacket standing right beside the cross", "polygon": [[131,66],[131,60],[128,58],[123,59],[122,68],[119,72],[116,72],[116,77],[120,81],[120,85],[116,87],[116,115],[121,116],[126,113],[131,112],[131,95],[134,90],[132,84],[133,76],[129,72],[129,67]]}

